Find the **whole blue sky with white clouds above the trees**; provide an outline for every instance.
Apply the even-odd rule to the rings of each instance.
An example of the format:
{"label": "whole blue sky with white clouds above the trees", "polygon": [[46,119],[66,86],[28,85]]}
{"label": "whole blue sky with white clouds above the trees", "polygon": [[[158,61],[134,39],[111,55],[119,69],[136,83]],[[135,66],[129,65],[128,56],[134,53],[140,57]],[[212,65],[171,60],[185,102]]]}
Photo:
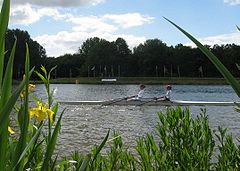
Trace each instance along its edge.
{"label": "whole blue sky with white clouds above the trees", "polygon": [[11,0],[10,29],[27,31],[47,56],[78,51],[91,37],[193,44],[166,17],[203,44],[240,45],[240,0]]}

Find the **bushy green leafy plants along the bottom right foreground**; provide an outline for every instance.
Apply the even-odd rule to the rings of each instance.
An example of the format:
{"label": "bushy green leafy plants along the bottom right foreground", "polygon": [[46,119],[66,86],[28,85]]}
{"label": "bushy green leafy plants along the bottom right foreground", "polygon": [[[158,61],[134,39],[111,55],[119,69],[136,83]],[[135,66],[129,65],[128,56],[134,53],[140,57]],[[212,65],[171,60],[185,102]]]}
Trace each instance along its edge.
{"label": "bushy green leafy plants along the bottom right foreground", "polygon": [[[169,108],[158,113],[155,134],[136,141],[134,149],[126,147],[115,132],[105,154],[90,159],[86,170],[238,170],[240,149],[226,129],[217,133],[209,128],[205,111],[194,119],[188,108]],[[96,154],[96,148],[92,155]],[[62,160],[59,170],[78,170],[84,158],[78,152],[71,160]]]}

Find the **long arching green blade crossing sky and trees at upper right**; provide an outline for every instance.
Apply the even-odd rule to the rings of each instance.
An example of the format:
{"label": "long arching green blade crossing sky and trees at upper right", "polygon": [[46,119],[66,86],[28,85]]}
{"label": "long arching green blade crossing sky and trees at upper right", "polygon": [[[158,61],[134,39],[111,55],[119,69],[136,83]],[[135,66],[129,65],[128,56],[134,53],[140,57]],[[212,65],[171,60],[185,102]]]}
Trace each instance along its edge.
{"label": "long arching green blade crossing sky and trees at upper right", "polygon": [[218,71],[223,75],[223,77],[227,80],[227,82],[232,86],[238,97],[240,97],[240,84],[233,77],[233,75],[228,71],[228,69],[222,64],[222,62],[205,46],[203,46],[197,39],[195,39],[188,32],[183,30],[181,27],[173,23],[171,20],[164,17],[165,20],[174,25],[178,30],[180,30],[183,34],[185,34],[191,41],[193,41],[197,47],[208,57],[208,59],[215,65]]}

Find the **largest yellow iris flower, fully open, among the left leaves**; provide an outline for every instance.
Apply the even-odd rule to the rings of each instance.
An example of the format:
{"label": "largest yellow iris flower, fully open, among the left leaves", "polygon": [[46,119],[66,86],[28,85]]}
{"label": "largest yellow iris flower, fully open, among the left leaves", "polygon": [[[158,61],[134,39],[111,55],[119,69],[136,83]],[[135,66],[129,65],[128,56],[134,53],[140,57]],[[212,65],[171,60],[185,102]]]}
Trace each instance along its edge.
{"label": "largest yellow iris flower, fully open, among the left leaves", "polygon": [[38,122],[43,121],[47,116],[50,119],[50,122],[53,122],[53,114],[54,112],[51,109],[48,109],[48,103],[43,105],[41,102],[37,102],[36,108],[31,108],[29,110],[30,119],[35,115]]}

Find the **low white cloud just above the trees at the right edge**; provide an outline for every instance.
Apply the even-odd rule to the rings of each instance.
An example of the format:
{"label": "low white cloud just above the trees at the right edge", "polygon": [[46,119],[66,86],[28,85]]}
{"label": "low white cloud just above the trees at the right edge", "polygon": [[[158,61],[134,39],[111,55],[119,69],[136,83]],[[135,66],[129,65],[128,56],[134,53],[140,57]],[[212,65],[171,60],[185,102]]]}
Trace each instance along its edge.
{"label": "low white cloud just above the trees at the right edge", "polygon": [[[223,34],[218,36],[211,36],[205,38],[198,39],[204,45],[213,46],[215,44],[218,45],[225,45],[225,44],[236,44],[240,45],[240,33],[230,33],[230,34]],[[194,43],[186,43],[186,46],[193,46],[195,47]]]}

